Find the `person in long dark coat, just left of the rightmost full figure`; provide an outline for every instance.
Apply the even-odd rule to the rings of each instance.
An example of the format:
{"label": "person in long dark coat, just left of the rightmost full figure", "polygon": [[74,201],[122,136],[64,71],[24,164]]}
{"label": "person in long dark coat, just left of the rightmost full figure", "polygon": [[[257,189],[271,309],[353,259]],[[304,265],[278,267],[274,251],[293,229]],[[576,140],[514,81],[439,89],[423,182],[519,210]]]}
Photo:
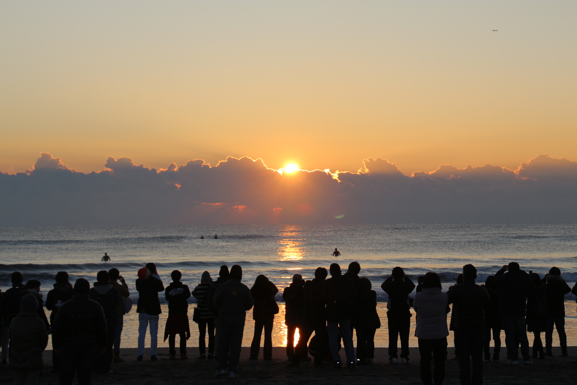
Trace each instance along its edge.
{"label": "person in long dark coat, just left of the rightmost full figure", "polygon": [[546,287],[539,274],[530,275],[531,283],[527,289],[527,331],[533,332],[533,358],[545,358],[541,333],[547,328],[549,312],[547,310]]}

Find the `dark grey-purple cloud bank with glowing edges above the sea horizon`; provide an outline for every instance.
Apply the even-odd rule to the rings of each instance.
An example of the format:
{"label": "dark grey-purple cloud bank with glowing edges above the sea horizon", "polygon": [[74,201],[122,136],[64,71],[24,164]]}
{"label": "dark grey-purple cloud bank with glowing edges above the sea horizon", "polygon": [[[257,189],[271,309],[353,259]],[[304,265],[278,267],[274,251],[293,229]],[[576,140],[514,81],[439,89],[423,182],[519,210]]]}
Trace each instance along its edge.
{"label": "dark grey-purple cloud bank with glowing edges above the sea horizon", "polygon": [[26,173],[0,173],[0,225],[577,222],[577,162],[564,158],[410,177],[385,159],[363,162],[357,173],[283,174],[261,159],[155,170],[111,157],[85,174],[42,153]]}

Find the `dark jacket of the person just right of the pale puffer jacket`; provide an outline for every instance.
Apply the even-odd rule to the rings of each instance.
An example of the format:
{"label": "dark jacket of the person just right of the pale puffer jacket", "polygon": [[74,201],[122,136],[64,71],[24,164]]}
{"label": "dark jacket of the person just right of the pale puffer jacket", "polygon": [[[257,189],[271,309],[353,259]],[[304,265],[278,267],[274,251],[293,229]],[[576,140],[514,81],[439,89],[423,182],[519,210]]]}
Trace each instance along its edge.
{"label": "dark jacket of the person just right of the pale puffer jacket", "polygon": [[462,284],[449,287],[449,305],[453,304],[452,322],[455,331],[484,331],[485,310],[491,298],[485,287],[465,279]]}

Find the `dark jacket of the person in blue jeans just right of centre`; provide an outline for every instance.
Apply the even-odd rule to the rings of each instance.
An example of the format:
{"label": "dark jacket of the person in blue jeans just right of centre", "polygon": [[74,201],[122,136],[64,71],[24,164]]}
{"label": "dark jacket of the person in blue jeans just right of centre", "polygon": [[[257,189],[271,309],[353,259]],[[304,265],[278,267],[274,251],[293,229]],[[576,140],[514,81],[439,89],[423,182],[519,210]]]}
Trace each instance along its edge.
{"label": "dark jacket of the person in blue jeans just right of centre", "polygon": [[335,275],[326,279],[322,297],[327,305],[327,321],[350,320],[353,317],[354,298],[356,296],[353,281],[344,275]]}

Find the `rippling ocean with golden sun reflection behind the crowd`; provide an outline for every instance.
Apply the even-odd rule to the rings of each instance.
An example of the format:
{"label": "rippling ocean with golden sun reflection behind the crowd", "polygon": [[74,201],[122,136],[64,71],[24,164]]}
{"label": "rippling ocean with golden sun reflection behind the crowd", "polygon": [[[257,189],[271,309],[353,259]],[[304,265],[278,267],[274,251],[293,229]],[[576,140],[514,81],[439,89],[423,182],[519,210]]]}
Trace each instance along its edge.
{"label": "rippling ocean with golden sun reflection behind the crowd", "polygon": [[[340,257],[331,255],[335,248]],[[100,261],[105,252],[111,261]],[[13,271],[20,271],[25,281],[38,279],[46,295],[58,271],[68,271],[70,282],[77,278],[95,282],[99,270],[116,267],[136,303],[136,272],[148,262],[156,264],[165,285],[171,281],[171,271],[181,271],[182,282],[191,290],[205,270],[216,280],[222,264],[229,268],[241,265],[242,281],[249,287],[258,274],[264,274],[280,290],[275,346],[283,345],[283,331],[286,343],[282,289],[293,274],[311,279],[317,267],[328,269],[334,262],[345,272],[351,261],[361,264],[359,275],[368,277],[377,292],[383,327],[375,342],[376,346],[387,346],[387,296],[380,285],[395,266],[403,267],[415,282],[419,275],[437,272],[446,290],[465,264],[477,267],[477,282],[481,283],[504,264],[517,261],[523,270],[541,275],[557,266],[572,287],[577,281],[577,223],[0,227],[2,290],[10,287]],[[166,303],[162,295],[160,298]],[[194,304],[194,298],[190,303]],[[577,345],[575,296],[567,294],[565,307],[569,345]],[[166,310],[166,304],[163,308]],[[126,316],[124,347],[136,346],[135,311],[136,306]],[[189,313],[192,319],[192,306]],[[192,320],[190,324],[195,331],[196,324]],[[249,346],[250,314],[246,324],[243,345]],[[162,336],[162,319],[160,325]],[[194,337],[190,341],[190,346],[196,346]],[[162,338],[159,346],[164,346]],[[411,346],[416,346],[414,338]]]}

